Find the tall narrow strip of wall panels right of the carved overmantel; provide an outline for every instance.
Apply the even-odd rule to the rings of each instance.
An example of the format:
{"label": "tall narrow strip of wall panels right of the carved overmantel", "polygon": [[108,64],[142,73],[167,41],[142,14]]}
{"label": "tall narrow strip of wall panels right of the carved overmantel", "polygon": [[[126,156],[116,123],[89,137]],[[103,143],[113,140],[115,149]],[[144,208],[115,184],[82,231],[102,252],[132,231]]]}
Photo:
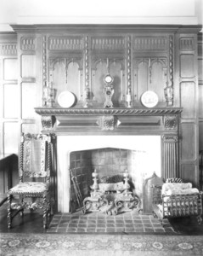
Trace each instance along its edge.
{"label": "tall narrow strip of wall panels right of the carved overmantel", "polygon": [[178,46],[176,63],[179,73],[179,102],[183,108],[180,124],[180,176],[186,182],[198,183],[199,104],[197,35],[187,32],[178,33],[176,40],[176,45]]}

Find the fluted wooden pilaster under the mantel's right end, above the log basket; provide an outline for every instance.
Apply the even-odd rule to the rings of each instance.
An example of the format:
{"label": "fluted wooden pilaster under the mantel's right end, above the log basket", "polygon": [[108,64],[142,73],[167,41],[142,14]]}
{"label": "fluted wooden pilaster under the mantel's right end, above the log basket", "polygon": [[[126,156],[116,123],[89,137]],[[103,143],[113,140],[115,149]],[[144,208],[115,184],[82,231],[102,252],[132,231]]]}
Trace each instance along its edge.
{"label": "fluted wooden pilaster under the mantel's right end, above the log basket", "polygon": [[164,168],[162,176],[178,177],[178,136],[164,135],[163,139],[163,160]]}

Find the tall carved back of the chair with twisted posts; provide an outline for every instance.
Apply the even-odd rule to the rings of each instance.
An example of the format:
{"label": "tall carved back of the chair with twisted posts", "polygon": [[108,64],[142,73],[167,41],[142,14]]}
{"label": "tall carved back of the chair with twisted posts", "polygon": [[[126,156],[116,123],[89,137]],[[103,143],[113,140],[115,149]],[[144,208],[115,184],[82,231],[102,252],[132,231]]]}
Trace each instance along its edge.
{"label": "tall carved back of the chair with twisted posts", "polygon": [[48,182],[51,135],[23,133],[20,142],[20,181]]}

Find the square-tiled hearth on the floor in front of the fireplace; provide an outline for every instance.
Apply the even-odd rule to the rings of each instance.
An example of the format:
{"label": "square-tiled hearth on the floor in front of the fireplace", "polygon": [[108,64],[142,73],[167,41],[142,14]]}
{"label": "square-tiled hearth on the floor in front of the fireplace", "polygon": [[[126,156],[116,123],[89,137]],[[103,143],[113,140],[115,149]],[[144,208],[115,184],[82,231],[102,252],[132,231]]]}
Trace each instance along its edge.
{"label": "square-tiled hearth on the floor in front of the fireplace", "polygon": [[166,219],[164,227],[152,215],[140,215],[136,210],[116,216],[101,212],[82,214],[58,213],[54,215],[48,232],[62,233],[174,233]]}

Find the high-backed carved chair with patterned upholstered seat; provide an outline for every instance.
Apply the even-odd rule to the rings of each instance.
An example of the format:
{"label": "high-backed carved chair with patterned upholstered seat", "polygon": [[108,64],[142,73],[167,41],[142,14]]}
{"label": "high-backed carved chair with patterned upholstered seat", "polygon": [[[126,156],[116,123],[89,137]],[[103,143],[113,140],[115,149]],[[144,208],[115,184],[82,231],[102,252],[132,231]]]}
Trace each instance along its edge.
{"label": "high-backed carved chair with patterned upholstered seat", "polygon": [[8,190],[8,228],[13,218],[24,209],[40,210],[43,228],[54,205],[50,172],[53,166],[54,134],[22,134],[20,142],[20,183]]}

